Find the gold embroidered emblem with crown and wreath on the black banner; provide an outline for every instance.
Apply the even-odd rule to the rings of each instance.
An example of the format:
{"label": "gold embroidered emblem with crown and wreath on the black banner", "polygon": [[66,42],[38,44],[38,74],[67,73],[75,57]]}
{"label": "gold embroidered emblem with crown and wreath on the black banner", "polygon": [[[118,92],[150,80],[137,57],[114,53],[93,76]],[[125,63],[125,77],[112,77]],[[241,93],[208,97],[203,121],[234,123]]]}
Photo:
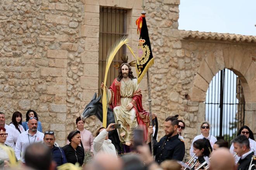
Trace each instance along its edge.
{"label": "gold embroidered emblem with crown and wreath on the black banner", "polygon": [[143,65],[147,63],[150,56],[150,50],[148,45],[143,45],[145,43],[145,39],[139,39],[138,45],[138,58],[137,58],[137,65],[138,65],[138,73],[141,73],[141,68]]}

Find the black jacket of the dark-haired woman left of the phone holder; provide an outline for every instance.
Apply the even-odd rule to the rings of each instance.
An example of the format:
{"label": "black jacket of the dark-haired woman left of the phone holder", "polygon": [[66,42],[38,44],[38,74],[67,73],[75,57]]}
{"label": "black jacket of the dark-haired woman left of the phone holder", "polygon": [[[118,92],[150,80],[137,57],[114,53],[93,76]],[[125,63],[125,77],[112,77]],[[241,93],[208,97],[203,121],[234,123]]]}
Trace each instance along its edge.
{"label": "black jacket of the dark-haired woman left of the phone holder", "polygon": [[64,153],[66,155],[67,162],[73,164],[78,162],[80,166],[83,165],[83,160],[85,158],[85,150],[81,146],[78,145],[76,150],[74,150],[74,148],[69,143],[69,145],[63,146],[62,149],[64,150]]}

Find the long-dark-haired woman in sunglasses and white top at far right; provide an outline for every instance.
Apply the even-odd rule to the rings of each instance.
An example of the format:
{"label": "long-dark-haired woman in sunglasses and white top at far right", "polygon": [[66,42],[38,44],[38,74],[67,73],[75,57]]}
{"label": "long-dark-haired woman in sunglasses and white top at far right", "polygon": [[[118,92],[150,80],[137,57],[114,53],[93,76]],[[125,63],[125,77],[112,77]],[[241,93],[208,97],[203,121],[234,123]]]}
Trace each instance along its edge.
{"label": "long-dark-haired woman in sunglasses and white top at far right", "polygon": [[[239,129],[237,136],[240,134],[246,136],[249,139],[251,151],[253,151],[254,155],[255,155],[256,154],[256,142],[254,141],[254,136],[253,136],[253,132],[251,131],[251,129],[248,126],[242,126],[242,128]],[[235,155],[233,143],[230,146],[230,153]],[[240,159],[240,157],[236,155],[235,163],[237,163],[239,161],[239,159]]]}

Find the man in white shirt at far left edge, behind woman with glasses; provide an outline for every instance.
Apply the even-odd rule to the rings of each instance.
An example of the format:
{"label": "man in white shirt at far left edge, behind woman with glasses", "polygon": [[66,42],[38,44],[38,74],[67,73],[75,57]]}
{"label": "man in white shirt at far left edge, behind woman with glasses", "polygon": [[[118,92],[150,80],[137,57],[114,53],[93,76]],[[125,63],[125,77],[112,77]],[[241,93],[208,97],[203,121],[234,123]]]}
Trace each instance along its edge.
{"label": "man in white shirt at far left edge, behind woman with glasses", "polygon": [[0,112],[0,127],[5,128],[6,133],[8,133],[5,144],[12,147],[12,149],[14,150],[15,143],[17,142],[17,139],[19,137],[19,133],[17,133],[16,130],[11,126],[5,124],[5,114],[3,112]]}

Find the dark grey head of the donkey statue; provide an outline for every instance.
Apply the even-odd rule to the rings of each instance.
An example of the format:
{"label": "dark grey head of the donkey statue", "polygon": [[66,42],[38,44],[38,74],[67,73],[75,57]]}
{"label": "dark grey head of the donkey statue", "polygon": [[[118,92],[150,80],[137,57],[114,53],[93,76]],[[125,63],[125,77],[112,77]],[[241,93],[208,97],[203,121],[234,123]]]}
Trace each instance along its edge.
{"label": "dark grey head of the donkey statue", "polygon": [[94,93],[92,100],[88,105],[86,105],[85,109],[83,110],[83,113],[81,115],[81,119],[84,121],[88,117],[97,114],[97,109],[99,106],[99,101],[101,99],[101,95],[97,98],[97,94]]}

